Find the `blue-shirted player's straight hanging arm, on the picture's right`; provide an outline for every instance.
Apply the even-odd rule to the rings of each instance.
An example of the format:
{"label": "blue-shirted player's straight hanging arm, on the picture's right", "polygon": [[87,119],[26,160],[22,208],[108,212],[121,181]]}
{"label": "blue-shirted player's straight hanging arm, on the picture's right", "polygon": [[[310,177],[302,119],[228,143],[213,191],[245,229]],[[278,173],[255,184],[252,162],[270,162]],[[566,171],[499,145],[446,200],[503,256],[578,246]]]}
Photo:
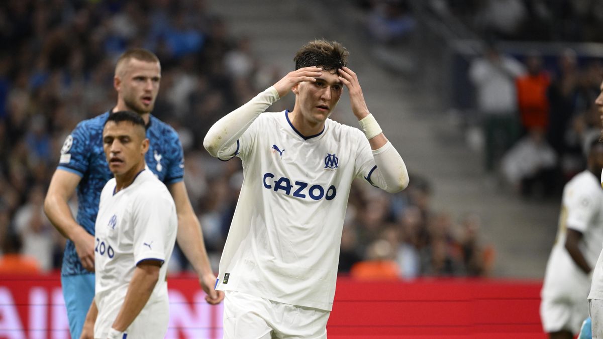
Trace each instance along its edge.
{"label": "blue-shirted player's straight hanging arm, on the picture's right", "polygon": [[209,264],[201,224],[192,209],[185,183],[183,181],[172,183],[168,185],[168,189],[174,198],[178,215],[176,235],[178,246],[197,272],[201,288],[207,294],[205,300],[215,305],[224,299],[224,293],[214,290],[216,276],[213,275],[212,267]]}

